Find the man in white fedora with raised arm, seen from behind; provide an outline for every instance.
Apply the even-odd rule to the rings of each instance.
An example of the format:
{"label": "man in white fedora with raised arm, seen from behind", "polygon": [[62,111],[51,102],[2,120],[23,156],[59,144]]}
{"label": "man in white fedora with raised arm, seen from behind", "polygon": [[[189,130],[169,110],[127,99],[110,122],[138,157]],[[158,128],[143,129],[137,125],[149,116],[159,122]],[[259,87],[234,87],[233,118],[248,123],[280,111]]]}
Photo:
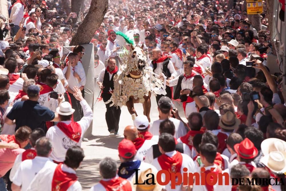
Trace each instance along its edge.
{"label": "man in white fedora with raised arm, seen from behind", "polygon": [[46,137],[52,140],[53,151],[50,158],[56,162],[63,162],[67,149],[73,146],[80,146],[82,137],[88,129],[92,119],[92,109],[82,97],[82,93],[78,87],[74,87],[74,97],[80,102],[84,111],[84,117],[78,121],[71,121],[74,109],[68,102],[63,102],[57,108],[59,114],[59,123],[50,127],[47,131]]}

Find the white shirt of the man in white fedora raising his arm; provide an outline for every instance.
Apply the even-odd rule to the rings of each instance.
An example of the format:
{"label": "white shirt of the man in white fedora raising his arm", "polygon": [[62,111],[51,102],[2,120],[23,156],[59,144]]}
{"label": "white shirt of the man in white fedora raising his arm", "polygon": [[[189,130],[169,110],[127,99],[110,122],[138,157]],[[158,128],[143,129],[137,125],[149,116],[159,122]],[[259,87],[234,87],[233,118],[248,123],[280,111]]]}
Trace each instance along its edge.
{"label": "white shirt of the man in white fedora raising his arm", "polygon": [[[52,144],[54,145],[53,151],[50,156],[52,160],[55,160],[57,162],[63,162],[65,160],[65,153],[67,152],[67,149],[76,145],[77,146],[81,145],[82,137],[84,136],[84,133],[90,126],[90,123],[93,119],[93,113],[92,109],[90,108],[86,100],[82,100],[80,102],[80,105],[82,106],[84,117],[77,122],[82,128],[81,138],[78,143],[70,139],[67,135],[65,135],[65,133],[63,133],[63,131],[61,131],[59,127],[57,127],[57,125],[54,125],[48,129],[46,137],[49,138],[52,141]],[[71,123],[71,121],[61,121],[61,122],[65,124]]]}

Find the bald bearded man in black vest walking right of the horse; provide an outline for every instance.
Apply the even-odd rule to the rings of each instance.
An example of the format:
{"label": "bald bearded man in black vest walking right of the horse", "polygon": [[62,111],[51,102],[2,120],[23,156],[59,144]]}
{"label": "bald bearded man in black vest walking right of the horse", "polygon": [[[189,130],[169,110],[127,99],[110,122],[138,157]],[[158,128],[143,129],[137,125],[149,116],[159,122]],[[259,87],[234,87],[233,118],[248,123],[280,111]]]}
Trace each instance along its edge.
{"label": "bald bearded man in black vest walking right of the horse", "polygon": [[[155,74],[158,74],[160,78],[163,76],[167,77],[167,80],[172,80],[177,76],[177,72],[174,68],[173,62],[170,60],[170,56],[162,55],[162,51],[159,48],[155,48],[152,50],[153,60],[150,64],[150,67],[153,69]],[[173,87],[166,86],[167,94],[165,96],[172,99],[173,97]],[[164,95],[156,96],[156,101],[158,104],[159,99]]]}

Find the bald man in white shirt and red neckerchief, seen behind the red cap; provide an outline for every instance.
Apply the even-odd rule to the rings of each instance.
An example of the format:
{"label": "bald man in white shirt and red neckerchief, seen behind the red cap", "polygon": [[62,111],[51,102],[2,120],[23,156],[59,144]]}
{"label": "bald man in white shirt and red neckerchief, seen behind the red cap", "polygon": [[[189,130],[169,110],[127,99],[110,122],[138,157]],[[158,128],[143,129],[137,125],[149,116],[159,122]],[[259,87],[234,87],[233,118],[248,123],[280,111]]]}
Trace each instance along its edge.
{"label": "bald man in white shirt and red neckerchief, seen behind the red cap", "polygon": [[143,161],[145,159],[147,150],[156,145],[157,143],[153,140],[144,140],[139,137],[139,133],[136,127],[128,125],[124,129],[124,138],[132,141],[135,145],[137,153],[135,155],[136,160]]}

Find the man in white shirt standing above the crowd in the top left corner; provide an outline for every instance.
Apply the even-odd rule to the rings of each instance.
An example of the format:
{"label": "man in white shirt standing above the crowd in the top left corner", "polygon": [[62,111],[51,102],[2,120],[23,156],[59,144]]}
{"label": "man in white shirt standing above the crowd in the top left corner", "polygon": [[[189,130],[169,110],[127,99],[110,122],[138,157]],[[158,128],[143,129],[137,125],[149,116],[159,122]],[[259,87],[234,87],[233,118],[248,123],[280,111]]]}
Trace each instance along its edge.
{"label": "man in white shirt standing above the crowd in the top left corner", "polygon": [[20,22],[24,16],[24,7],[26,0],[19,0],[12,5],[10,14],[10,23],[14,23],[14,27],[11,29],[11,36],[15,36],[20,29]]}

